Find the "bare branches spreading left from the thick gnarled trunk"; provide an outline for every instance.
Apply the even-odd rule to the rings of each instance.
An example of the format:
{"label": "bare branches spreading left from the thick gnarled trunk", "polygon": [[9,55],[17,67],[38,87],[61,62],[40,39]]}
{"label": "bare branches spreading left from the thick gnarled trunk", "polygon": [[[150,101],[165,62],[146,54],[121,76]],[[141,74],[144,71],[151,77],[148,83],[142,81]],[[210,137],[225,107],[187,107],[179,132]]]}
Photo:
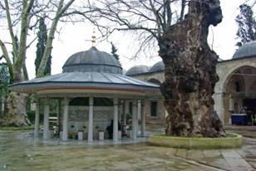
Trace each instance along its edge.
{"label": "bare branches spreading left from the thick gnarled trunk", "polygon": [[129,31],[139,41],[140,51],[157,50],[158,42],[170,26],[181,22],[187,12],[187,0],[106,0],[91,3],[91,20],[103,37],[116,31]]}

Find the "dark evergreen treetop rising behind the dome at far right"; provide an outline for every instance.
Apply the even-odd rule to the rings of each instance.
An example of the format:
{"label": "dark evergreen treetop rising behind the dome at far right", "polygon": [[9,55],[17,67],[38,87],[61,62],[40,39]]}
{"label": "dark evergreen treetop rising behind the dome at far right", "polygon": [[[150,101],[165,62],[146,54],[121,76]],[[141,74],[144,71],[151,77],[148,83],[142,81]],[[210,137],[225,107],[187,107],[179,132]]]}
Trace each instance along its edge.
{"label": "dark evergreen treetop rising behind the dome at far right", "polygon": [[235,18],[238,24],[237,37],[240,39],[236,46],[242,46],[246,42],[256,40],[256,21],[252,7],[247,4],[240,5],[240,13]]}

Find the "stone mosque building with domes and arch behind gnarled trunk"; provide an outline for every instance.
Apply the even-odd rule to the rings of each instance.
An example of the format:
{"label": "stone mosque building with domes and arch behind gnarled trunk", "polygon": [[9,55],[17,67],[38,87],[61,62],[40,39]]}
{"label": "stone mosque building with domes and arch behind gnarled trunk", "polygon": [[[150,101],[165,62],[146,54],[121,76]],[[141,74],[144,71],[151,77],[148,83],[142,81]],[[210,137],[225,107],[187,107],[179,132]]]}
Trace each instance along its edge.
{"label": "stone mosque building with domes and arch behind gnarled trunk", "polygon": [[[219,81],[214,88],[214,108],[224,125],[256,124],[256,41],[241,46],[232,59],[219,61],[216,69]],[[159,61],[152,67],[133,66],[126,76],[160,85],[165,81],[164,71],[164,63]],[[151,96],[145,109],[148,123],[165,123],[163,97]]]}

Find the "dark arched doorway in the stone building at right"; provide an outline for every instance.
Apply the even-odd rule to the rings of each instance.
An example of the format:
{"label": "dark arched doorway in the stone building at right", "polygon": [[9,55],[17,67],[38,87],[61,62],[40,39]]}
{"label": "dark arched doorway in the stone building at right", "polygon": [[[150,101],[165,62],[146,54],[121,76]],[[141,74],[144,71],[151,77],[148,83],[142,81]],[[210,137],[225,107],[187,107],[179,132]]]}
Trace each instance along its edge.
{"label": "dark arched doorway in the stone building at right", "polygon": [[247,123],[252,124],[251,117],[256,114],[256,68],[240,66],[229,74],[223,90],[224,124],[231,124],[231,115],[236,114],[246,114]]}

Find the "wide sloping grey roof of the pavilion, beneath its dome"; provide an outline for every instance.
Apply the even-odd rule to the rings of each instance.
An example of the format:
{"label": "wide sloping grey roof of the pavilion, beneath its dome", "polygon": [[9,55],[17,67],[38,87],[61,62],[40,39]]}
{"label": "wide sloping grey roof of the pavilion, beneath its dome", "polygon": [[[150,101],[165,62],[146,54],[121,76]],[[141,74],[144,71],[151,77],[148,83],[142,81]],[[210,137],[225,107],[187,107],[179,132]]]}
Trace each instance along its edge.
{"label": "wide sloping grey roof of the pavilion, beneath its dome", "polygon": [[37,90],[51,89],[111,89],[111,90],[140,90],[158,91],[160,85],[148,81],[139,81],[130,76],[106,72],[64,72],[53,76],[22,81],[10,85],[10,89],[17,92],[36,93]]}

